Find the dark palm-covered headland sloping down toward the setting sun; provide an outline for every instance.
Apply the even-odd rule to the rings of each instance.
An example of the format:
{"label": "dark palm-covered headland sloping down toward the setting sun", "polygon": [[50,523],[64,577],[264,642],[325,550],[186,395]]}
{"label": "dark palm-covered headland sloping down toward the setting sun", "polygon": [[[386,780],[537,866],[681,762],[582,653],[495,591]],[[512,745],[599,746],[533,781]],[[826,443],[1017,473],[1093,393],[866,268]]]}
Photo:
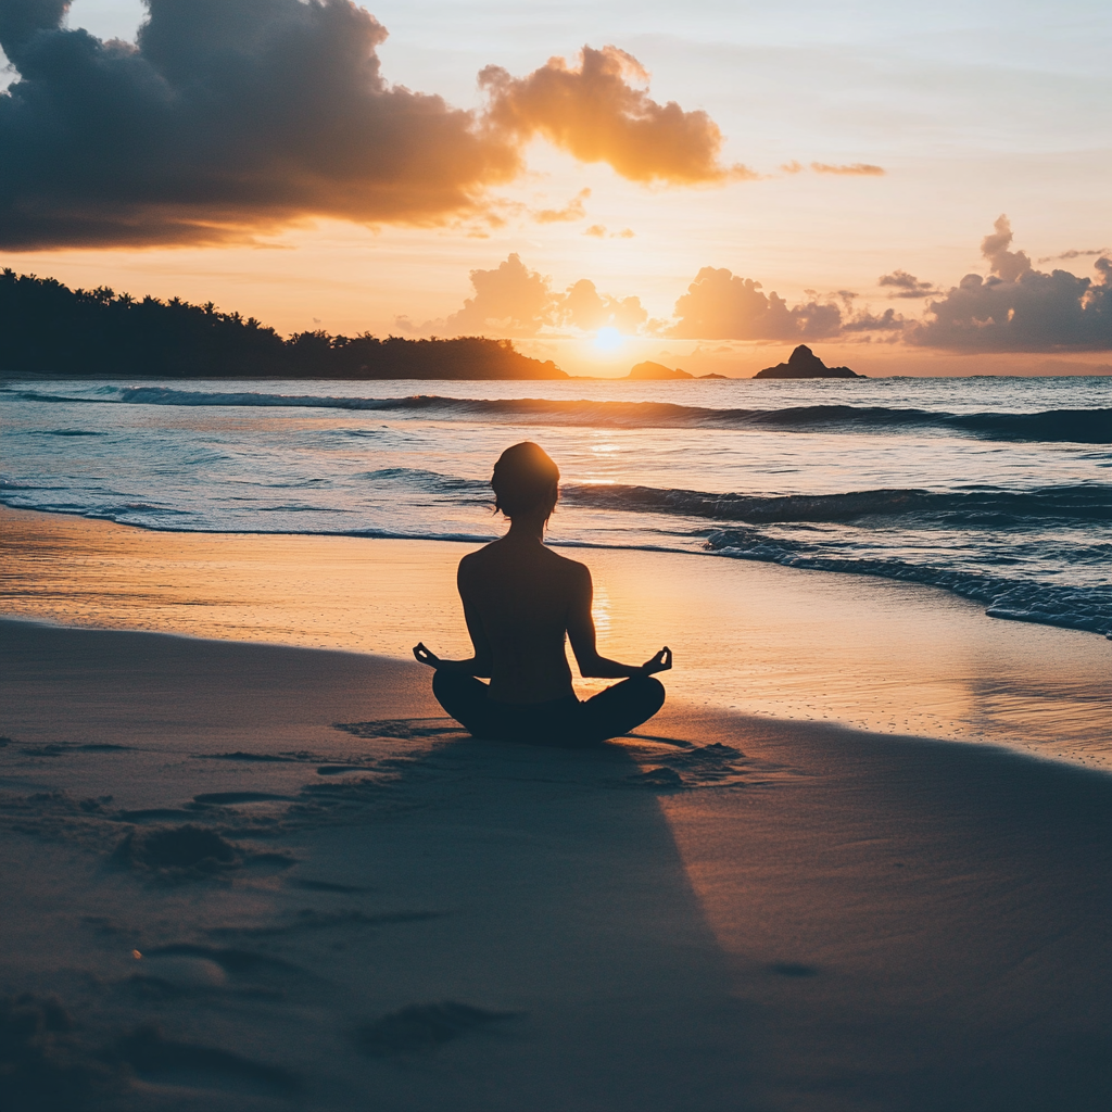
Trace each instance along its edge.
{"label": "dark palm-covered headland sloping down toward the setting sun", "polygon": [[298,332],[282,339],[212,302],[141,300],[107,286],[0,271],[0,371],[66,378],[565,378],[508,340]]}

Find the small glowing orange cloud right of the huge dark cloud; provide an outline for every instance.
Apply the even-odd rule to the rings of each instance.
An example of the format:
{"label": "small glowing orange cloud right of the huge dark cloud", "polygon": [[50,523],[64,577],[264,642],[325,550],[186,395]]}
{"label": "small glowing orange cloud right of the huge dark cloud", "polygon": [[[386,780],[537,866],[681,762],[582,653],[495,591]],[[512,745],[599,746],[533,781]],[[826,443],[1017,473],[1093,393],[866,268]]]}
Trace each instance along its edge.
{"label": "small glowing orange cloud right of the huge dark cloud", "polygon": [[487,118],[522,141],[543,136],[580,162],[608,162],[631,181],[673,185],[722,182],[755,175],[718,161],[722,132],[704,111],[659,105],[633,82],[648,73],[617,47],[584,47],[578,67],[563,58],[528,77],[499,66],[479,73],[489,100]]}

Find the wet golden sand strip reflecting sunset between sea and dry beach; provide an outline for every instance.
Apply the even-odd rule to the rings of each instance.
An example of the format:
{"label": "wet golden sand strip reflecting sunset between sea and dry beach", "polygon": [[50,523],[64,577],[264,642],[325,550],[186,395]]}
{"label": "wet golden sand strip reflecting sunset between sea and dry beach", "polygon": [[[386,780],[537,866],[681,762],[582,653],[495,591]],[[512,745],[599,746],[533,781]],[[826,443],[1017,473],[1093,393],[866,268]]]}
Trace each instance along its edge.
{"label": "wet golden sand strip reflecting sunset between sea and dry beach", "polygon": [[[0,544],[8,617],[398,659],[418,639],[468,651],[455,564],[474,545],[170,533],[8,507]],[[987,618],[897,580],[634,549],[568,555],[593,570],[604,652],[639,659],[673,646],[672,698],[1112,767],[1104,638]],[[577,681],[584,695],[598,686]]]}

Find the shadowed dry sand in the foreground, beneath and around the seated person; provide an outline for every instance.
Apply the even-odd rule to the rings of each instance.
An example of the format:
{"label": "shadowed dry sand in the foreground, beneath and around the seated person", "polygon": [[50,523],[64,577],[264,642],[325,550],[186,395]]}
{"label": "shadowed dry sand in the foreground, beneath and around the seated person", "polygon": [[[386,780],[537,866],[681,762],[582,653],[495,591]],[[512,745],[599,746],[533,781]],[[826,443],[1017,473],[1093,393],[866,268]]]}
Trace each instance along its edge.
{"label": "shadowed dry sand in the foreground, beneath and around the seated person", "polygon": [[1103,771],[682,697],[479,742],[415,663],[247,641],[0,623],[13,1108],[1108,1108]]}

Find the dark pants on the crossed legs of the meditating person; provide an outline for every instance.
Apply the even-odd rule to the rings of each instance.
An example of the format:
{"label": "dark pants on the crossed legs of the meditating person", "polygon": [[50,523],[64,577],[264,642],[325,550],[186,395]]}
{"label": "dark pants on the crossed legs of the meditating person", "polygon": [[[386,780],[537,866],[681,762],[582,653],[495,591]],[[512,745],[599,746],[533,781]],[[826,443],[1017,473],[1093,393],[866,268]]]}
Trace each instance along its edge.
{"label": "dark pants on the crossed legs of the meditating person", "polygon": [[550,703],[498,703],[474,676],[438,669],[433,694],[440,706],[476,737],[549,745],[593,745],[619,737],[664,706],[664,685],[654,676],[633,676],[586,703],[574,695]]}

